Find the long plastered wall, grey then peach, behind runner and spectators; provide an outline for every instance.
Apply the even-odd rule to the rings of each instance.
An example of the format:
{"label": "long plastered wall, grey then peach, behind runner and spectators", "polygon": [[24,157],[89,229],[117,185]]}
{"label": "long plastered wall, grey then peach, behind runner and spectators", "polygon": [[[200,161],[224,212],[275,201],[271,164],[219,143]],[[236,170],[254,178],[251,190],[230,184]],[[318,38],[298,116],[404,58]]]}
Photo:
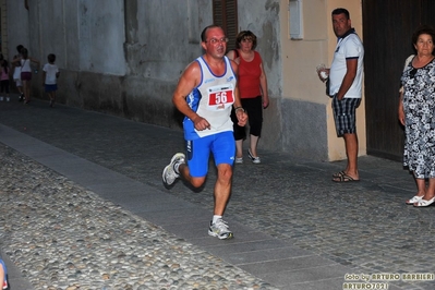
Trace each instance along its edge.
{"label": "long plastered wall, grey then peach, behind runner and spectators", "polygon": [[[213,24],[209,0],[7,0],[8,48],[17,44],[46,62],[57,55],[61,102],[181,130],[171,102],[185,65],[203,53],[202,29]],[[289,38],[288,0],[238,0],[239,29],[258,37],[270,106],[264,111],[259,150],[301,157],[346,158],[336,137],[330,100],[315,67],[330,64],[334,8],[351,12],[362,33],[360,0],[303,0],[304,38]],[[46,98],[39,75],[34,95]],[[363,105],[359,109],[360,154],[365,153]]]}

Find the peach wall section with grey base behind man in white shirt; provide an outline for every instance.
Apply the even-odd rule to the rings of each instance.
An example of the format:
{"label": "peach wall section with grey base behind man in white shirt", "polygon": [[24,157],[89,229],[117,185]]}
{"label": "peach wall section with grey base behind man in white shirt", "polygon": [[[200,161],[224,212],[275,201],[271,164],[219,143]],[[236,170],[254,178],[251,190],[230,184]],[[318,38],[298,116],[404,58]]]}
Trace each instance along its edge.
{"label": "peach wall section with grey base behind man in white shirt", "polygon": [[[288,1],[280,1],[281,7]],[[330,13],[342,7],[350,11],[352,26],[362,37],[360,0],[303,0],[303,38],[290,39],[289,11],[281,10],[282,106],[287,108],[282,123],[287,125],[282,146],[287,152],[321,160],[346,159],[345,143],[337,137],[330,99],[318,80],[316,67],[330,67],[336,46]],[[287,76],[287,78],[286,78]],[[357,110],[360,155],[365,154],[364,101]]]}

